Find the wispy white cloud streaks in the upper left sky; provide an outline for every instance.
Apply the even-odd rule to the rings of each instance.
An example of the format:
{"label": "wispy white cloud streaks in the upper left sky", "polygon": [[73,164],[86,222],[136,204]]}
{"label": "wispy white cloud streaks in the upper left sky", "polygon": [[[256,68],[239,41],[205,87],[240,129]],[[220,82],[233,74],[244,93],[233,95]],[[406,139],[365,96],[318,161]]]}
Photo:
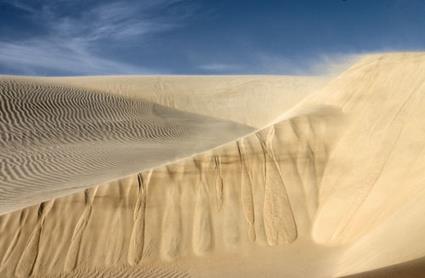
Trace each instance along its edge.
{"label": "wispy white cloud streaks in the upper left sky", "polygon": [[100,2],[85,11],[70,14],[58,9],[60,2],[66,4],[63,0],[42,3],[41,8],[18,0],[6,2],[42,19],[47,26],[46,34],[41,37],[19,41],[0,39],[0,66],[26,74],[147,73],[149,71],[143,67],[99,56],[96,50],[108,42],[137,39],[138,43],[143,43],[147,35],[182,25],[187,16],[164,16],[160,12],[182,0]]}

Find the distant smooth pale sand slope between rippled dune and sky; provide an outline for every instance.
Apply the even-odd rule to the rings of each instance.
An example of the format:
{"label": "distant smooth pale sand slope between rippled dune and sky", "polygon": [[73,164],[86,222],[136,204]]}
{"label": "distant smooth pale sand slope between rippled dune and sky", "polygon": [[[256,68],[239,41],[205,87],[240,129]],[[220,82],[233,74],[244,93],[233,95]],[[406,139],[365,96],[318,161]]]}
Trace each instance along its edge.
{"label": "distant smooth pale sand slope between rippled dune and sky", "polygon": [[256,128],[271,124],[330,77],[108,76],[47,78],[72,86],[149,100]]}

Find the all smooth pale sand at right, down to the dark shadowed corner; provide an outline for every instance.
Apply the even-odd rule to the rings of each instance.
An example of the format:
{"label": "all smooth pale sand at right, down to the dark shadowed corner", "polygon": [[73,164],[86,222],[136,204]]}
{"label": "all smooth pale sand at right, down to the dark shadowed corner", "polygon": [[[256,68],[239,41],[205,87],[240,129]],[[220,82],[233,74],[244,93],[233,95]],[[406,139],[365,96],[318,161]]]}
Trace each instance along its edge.
{"label": "all smooth pale sand at right, down to the dark shadowed corner", "polygon": [[365,57],[317,96],[350,119],[312,232],[319,243],[349,246],[341,275],[425,256],[424,93],[425,55],[409,53]]}

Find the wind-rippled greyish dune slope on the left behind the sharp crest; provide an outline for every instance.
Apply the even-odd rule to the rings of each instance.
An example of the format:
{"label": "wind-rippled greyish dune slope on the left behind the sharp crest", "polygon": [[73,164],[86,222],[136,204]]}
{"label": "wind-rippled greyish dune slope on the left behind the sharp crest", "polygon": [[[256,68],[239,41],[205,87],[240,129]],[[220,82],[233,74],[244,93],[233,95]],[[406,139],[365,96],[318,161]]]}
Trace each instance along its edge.
{"label": "wind-rippled greyish dune slope on the left behind the sharp crest", "polygon": [[147,101],[0,79],[0,213],[193,155],[251,129]]}

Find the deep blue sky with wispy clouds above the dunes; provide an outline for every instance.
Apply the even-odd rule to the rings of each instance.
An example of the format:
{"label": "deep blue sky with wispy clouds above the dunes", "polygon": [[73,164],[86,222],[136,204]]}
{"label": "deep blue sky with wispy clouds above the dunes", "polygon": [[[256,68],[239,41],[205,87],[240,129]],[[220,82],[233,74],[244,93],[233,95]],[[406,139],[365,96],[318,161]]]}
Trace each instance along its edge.
{"label": "deep blue sky with wispy clouds above the dunes", "polygon": [[423,0],[0,0],[0,74],[311,74],[425,50]]}

